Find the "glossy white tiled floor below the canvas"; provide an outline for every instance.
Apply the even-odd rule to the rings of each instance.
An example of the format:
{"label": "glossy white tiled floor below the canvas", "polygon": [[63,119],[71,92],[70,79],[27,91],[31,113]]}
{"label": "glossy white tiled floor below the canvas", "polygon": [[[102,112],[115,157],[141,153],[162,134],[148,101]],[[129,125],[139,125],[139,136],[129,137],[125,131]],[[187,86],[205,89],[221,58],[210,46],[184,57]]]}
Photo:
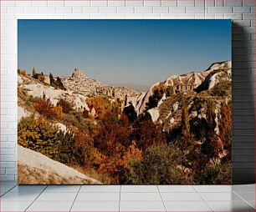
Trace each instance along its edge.
{"label": "glossy white tiled floor below the canvas", "polygon": [[255,184],[16,185],[1,183],[0,211],[254,211]]}

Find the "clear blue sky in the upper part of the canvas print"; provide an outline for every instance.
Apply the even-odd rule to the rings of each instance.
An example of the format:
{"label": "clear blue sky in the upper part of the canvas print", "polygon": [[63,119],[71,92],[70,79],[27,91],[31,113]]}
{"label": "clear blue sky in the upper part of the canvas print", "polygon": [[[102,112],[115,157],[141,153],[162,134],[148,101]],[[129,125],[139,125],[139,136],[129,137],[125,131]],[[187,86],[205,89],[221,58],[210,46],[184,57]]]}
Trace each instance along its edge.
{"label": "clear blue sky in the upper part of the canvas print", "polygon": [[230,20],[18,20],[18,68],[150,86],[231,59]]}

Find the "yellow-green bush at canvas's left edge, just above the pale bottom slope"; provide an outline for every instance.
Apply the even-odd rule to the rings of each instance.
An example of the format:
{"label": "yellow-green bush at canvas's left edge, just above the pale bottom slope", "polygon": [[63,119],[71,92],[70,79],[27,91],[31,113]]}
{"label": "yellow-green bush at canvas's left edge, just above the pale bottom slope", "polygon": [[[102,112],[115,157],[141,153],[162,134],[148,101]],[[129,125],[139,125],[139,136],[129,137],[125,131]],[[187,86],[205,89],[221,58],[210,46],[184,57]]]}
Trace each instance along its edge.
{"label": "yellow-green bush at canvas's left edge, just above the pale bottom slope", "polygon": [[44,118],[35,119],[34,115],[22,118],[18,123],[18,144],[63,164],[84,164],[74,134],[62,132]]}

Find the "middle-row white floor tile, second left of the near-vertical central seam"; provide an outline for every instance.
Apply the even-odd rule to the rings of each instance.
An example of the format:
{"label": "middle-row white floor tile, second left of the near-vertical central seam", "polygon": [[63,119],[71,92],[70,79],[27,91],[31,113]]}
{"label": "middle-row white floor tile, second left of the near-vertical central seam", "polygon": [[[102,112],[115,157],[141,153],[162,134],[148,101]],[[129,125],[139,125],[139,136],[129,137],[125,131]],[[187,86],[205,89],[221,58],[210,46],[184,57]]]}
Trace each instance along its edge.
{"label": "middle-row white floor tile, second left of the near-vertical central seam", "polygon": [[[14,194],[14,193],[13,193]],[[75,199],[77,193],[43,193],[40,194],[37,202],[72,202]]]}

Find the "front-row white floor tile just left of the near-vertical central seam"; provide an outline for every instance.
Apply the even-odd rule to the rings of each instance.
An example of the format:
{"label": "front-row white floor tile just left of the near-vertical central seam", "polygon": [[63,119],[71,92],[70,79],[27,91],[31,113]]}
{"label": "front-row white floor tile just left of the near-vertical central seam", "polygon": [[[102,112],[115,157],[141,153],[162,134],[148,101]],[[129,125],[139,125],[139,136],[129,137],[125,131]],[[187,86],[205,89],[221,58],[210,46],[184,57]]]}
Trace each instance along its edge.
{"label": "front-row white floor tile just left of the near-vertical central seam", "polygon": [[71,211],[119,211],[119,202],[74,202]]}

